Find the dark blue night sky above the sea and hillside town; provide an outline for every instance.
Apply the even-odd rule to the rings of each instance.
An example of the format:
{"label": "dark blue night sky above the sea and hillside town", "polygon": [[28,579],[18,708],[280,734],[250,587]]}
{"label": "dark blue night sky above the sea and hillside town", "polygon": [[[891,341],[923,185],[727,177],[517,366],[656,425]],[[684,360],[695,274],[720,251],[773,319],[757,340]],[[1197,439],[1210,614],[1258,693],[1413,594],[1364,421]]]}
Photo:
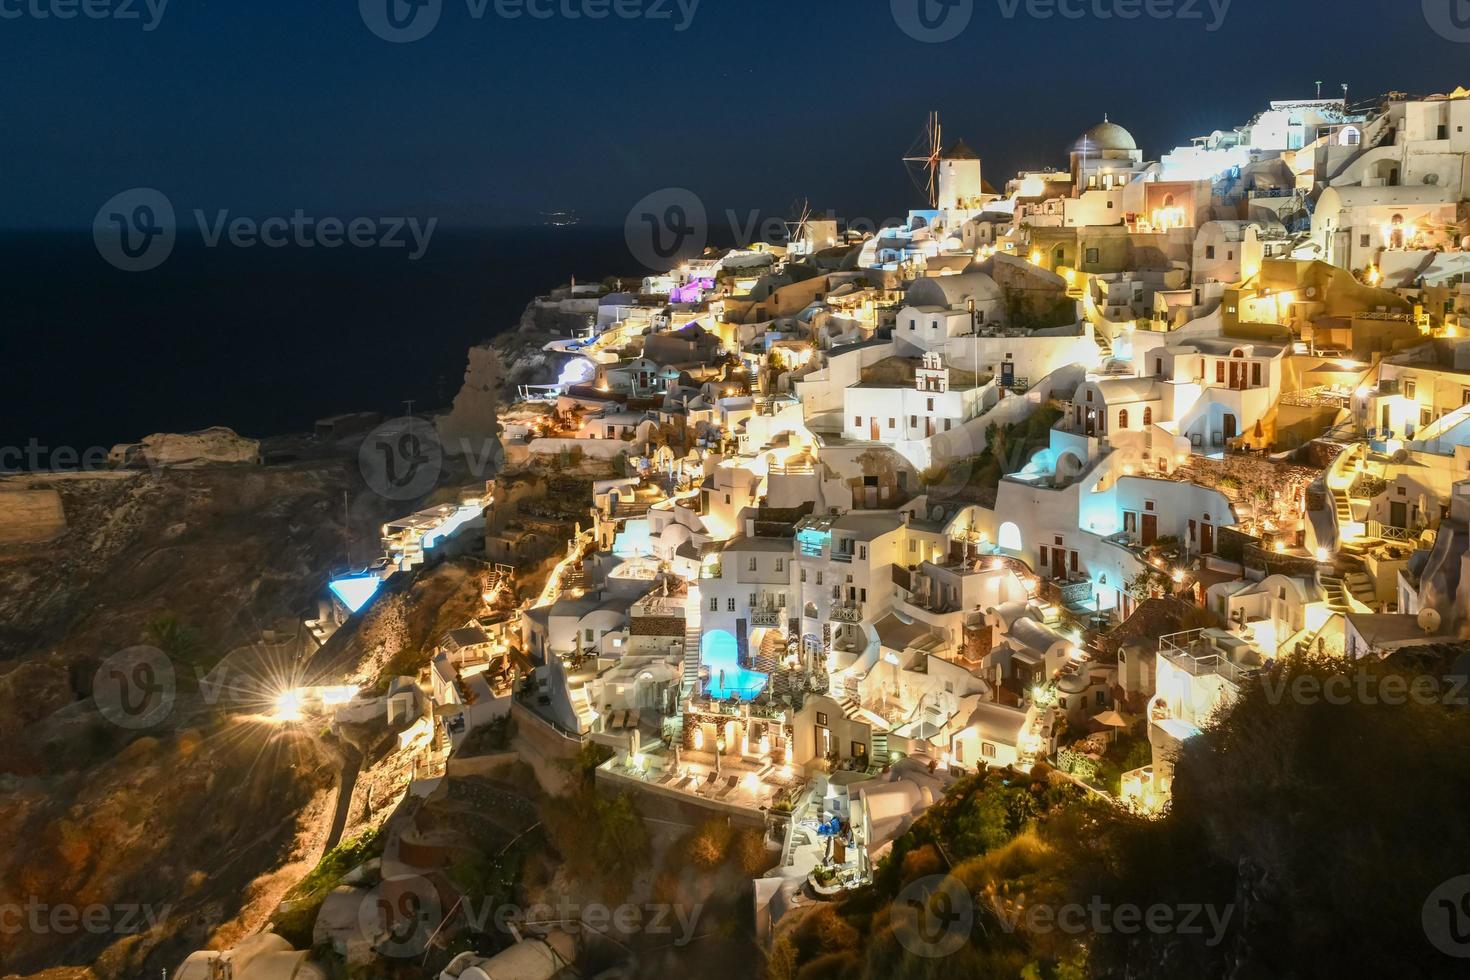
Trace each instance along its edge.
{"label": "dark blue night sky above the sea and hillside town", "polygon": [[410,44],[375,37],[357,0],[172,0],[153,31],[28,13],[53,1],[0,0],[24,12],[0,18],[12,228],[90,226],[132,187],[181,210],[620,223],[684,185],[713,209],[810,197],[881,219],[917,203],[898,157],[931,107],[1000,185],[1064,163],[1104,112],[1154,159],[1269,98],[1310,97],[1317,78],[1355,97],[1470,84],[1470,44],[1433,32],[1421,0],[1233,0],[1214,32],[1208,0],[1202,21],[1126,22],[1039,21],[1025,3],[1007,19],[1011,0],[973,0],[942,44],[907,37],[889,0],[703,0],[684,32],[476,21],[472,0],[442,0]]}

